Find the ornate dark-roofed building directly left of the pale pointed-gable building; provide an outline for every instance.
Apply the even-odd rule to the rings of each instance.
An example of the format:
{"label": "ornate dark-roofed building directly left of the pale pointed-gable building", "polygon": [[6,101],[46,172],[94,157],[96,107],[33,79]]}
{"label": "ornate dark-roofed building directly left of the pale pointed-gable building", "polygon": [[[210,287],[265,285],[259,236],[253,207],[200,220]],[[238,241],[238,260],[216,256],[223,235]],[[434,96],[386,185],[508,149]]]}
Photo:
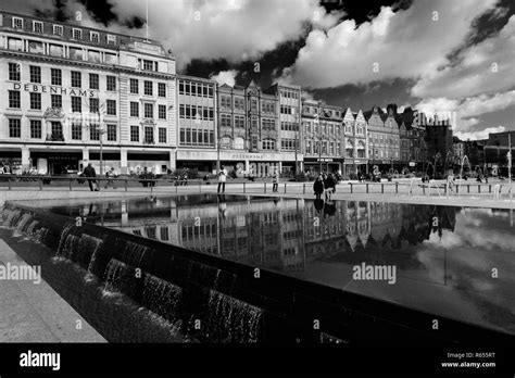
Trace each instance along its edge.
{"label": "ornate dark-roofed building directly left of the pale pointed-gable building", "polygon": [[302,104],[303,151],[305,169],[339,172],[343,169],[343,109],[319,101]]}

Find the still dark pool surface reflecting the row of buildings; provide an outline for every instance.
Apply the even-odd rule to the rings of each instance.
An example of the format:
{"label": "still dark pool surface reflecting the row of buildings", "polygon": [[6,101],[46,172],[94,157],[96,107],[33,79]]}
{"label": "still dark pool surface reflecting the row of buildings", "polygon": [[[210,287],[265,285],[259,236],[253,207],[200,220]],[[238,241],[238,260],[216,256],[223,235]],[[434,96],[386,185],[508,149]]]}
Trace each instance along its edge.
{"label": "still dark pool surface reflecting the row of buildings", "polygon": [[[27,204],[515,333],[510,210],[215,194]],[[394,284],[354,279],[362,264],[394,266]]]}

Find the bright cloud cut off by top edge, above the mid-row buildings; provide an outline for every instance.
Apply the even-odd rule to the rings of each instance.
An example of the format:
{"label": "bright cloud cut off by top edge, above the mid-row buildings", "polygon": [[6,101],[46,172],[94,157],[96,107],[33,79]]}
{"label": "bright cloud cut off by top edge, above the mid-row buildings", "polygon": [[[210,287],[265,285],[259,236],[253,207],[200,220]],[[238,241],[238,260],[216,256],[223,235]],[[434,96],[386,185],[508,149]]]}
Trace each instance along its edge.
{"label": "bright cloud cut off by top edge, above the mid-row buildings", "polygon": [[[109,2],[122,23],[145,18],[145,1]],[[171,48],[179,67],[191,59],[259,59],[299,38],[306,23],[328,28],[340,15],[328,14],[316,0],[149,0],[150,38]]]}

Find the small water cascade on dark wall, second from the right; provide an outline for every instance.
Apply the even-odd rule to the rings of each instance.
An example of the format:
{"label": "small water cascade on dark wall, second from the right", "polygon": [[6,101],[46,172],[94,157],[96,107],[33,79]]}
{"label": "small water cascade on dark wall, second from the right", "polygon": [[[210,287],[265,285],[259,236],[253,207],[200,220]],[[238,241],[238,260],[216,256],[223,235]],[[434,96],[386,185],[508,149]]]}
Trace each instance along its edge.
{"label": "small water cascade on dark wall, second from the right", "polygon": [[143,304],[168,320],[175,319],[183,299],[183,288],[152,275],[146,275]]}

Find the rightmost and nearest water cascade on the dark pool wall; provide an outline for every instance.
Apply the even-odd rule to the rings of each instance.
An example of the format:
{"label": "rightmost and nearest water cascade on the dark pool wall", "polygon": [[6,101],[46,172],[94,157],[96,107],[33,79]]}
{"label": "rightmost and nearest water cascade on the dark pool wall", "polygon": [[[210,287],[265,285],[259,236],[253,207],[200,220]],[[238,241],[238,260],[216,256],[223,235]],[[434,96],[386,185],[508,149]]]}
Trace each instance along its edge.
{"label": "rightmost and nearest water cascade on the dark pool wall", "polygon": [[210,290],[209,338],[219,342],[258,342],[263,310]]}

